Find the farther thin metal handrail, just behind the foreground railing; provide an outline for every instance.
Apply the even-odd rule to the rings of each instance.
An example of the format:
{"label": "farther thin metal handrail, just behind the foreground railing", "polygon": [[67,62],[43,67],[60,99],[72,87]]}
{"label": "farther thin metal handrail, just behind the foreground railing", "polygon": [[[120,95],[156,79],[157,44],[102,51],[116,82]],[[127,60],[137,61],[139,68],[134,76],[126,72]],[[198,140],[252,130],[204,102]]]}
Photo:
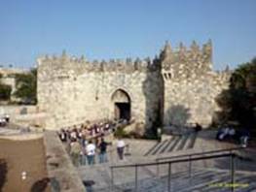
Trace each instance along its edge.
{"label": "farther thin metal handrail, just behind the foreground railing", "polygon": [[156,161],[158,162],[158,161],[170,160],[170,159],[181,158],[181,157],[192,157],[192,156],[199,156],[199,155],[205,155],[205,154],[211,154],[211,153],[219,153],[219,152],[226,152],[226,151],[233,152],[234,150],[240,150],[240,149],[244,149],[244,147],[240,146],[240,147],[233,147],[233,148],[225,148],[225,149],[218,149],[218,150],[208,150],[208,151],[204,151],[204,152],[196,152],[196,153],[175,155],[175,156],[169,156],[169,157],[159,157],[159,158],[156,159]]}

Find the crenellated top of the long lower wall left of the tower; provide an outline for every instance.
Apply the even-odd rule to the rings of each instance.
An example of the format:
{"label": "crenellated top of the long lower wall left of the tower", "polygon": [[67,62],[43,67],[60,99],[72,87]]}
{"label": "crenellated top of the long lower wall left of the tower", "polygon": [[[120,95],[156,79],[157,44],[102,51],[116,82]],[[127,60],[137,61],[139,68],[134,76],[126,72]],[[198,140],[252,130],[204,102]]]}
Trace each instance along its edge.
{"label": "crenellated top of the long lower wall left of the tower", "polygon": [[77,74],[86,72],[124,72],[132,73],[135,71],[146,72],[156,71],[158,63],[150,58],[132,60],[127,59],[110,59],[88,61],[84,55],[80,58],[68,56],[65,51],[60,56],[45,55],[38,60],[38,67],[50,68],[57,71],[71,70]]}

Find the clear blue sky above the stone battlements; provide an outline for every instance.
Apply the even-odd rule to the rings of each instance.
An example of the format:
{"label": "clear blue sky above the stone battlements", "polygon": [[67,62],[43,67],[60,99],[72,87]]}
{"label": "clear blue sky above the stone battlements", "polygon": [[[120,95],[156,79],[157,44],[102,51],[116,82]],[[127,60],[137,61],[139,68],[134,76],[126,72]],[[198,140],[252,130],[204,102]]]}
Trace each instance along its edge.
{"label": "clear blue sky above the stone battlements", "polygon": [[213,43],[213,65],[256,56],[256,0],[0,0],[0,65],[37,56],[154,57],[168,40]]}

